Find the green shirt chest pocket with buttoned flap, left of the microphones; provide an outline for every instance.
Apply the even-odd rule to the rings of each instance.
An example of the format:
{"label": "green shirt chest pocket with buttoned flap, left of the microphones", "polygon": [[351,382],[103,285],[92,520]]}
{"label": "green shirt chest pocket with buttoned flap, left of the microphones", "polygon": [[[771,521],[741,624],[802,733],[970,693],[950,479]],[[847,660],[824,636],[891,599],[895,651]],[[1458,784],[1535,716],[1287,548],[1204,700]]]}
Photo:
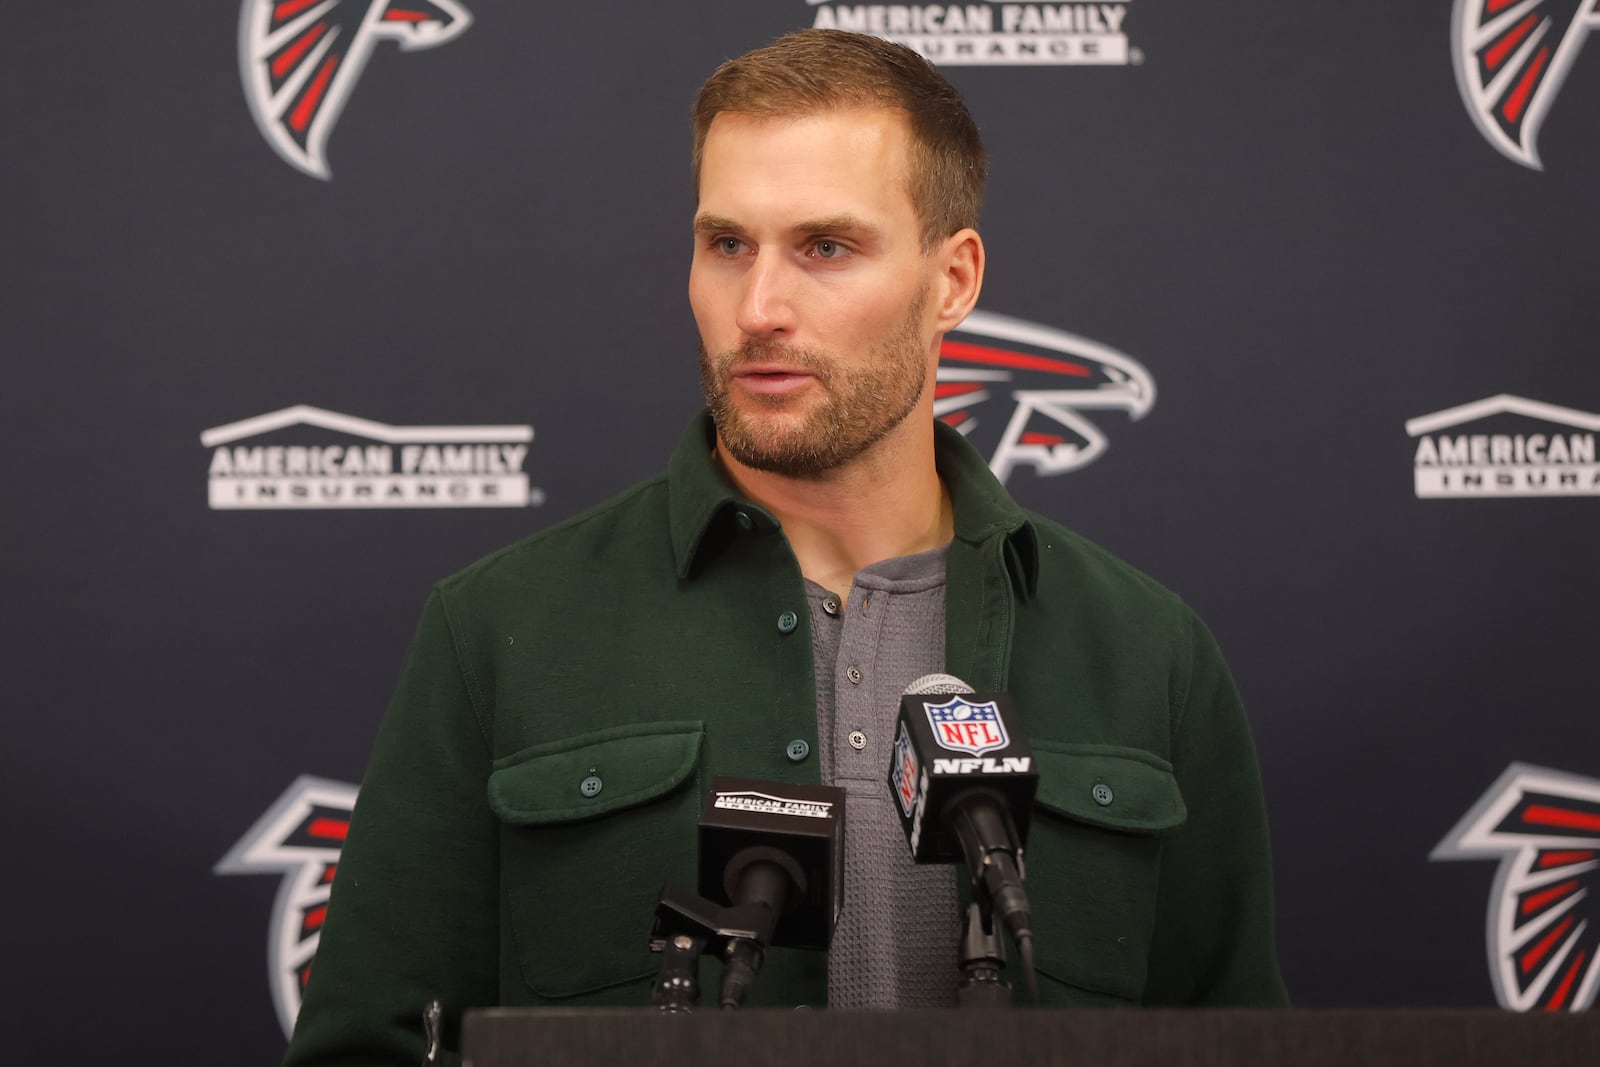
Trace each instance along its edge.
{"label": "green shirt chest pocket with buttoned flap, left of the microphones", "polygon": [[654,974],[648,941],[661,888],[694,880],[702,739],[698,721],[642,723],[494,761],[501,901],[539,997]]}

